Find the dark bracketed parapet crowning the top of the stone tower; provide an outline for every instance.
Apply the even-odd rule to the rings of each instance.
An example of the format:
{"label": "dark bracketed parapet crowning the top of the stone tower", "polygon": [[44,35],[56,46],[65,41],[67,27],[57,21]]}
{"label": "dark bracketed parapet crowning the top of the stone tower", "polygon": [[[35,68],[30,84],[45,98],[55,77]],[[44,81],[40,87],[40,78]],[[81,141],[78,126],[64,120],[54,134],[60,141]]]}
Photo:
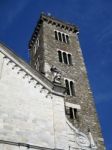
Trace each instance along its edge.
{"label": "dark bracketed parapet crowning the top of the stone tower", "polygon": [[63,22],[59,19],[54,18],[50,13],[45,14],[44,12],[41,13],[40,18],[37,22],[37,25],[35,27],[35,30],[32,34],[31,40],[29,41],[29,48],[32,47],[33,43],[36,40],[36,37],[38,35],[38,32],[40,30],[40,27],[42,25],[42,23],[45,21],[51,25],[55,25],[56,27],[60,27],[61,29],[65,29],[67,31],[71,31],[73,33],[78,33],[79,29],[76,25],[70,24],[70,23],[66,23]]}

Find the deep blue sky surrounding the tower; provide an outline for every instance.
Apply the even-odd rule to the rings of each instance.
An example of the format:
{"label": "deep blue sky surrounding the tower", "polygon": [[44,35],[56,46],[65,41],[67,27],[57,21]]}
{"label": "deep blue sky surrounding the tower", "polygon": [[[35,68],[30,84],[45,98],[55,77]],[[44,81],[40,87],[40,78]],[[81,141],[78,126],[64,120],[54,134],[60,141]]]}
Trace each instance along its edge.
{"label": "deep blue sky surrounding the tower", "polygon": [[28,61],[41,12],[76,24],[106,150],[112,150],[112,0],[0,0],[0,41]]}

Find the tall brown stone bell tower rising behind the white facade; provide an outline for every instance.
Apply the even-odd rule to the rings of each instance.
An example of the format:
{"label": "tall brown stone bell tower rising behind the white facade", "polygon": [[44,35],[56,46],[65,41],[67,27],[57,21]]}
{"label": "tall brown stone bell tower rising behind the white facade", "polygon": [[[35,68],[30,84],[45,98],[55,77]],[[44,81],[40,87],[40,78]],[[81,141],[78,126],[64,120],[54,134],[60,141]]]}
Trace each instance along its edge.
{"label": "tall brown stone bell tower rising behind the white facade", "polygon": [[42,14],[29,42],[30,63],[54,84],[66,87],[69,122],[84,134],[91,134],[96,149],[104,150],[78,33],[75,25]]}

